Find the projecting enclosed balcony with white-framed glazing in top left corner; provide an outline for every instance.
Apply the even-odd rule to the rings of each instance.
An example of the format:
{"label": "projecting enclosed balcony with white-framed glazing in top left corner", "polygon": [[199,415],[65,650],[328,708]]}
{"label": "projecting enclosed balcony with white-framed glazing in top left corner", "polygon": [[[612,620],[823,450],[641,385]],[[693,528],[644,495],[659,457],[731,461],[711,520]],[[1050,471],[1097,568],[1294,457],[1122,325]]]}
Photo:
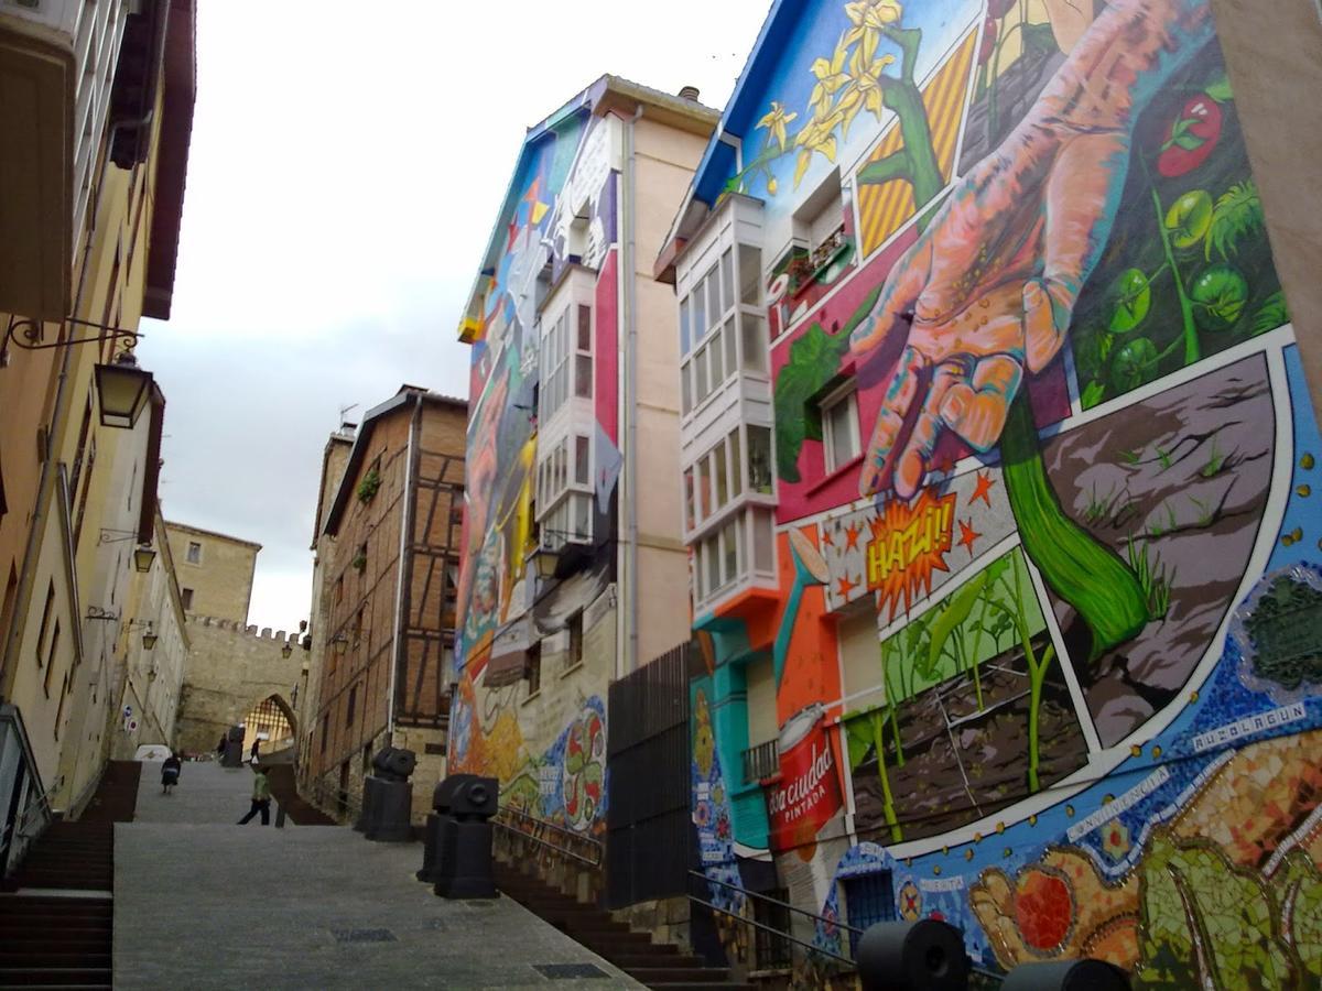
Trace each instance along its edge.
{"label": "projecting enclosed balcony with white-framed glazing in top left corner", "polygon": [[0,0],[0,311],[69,313],[130,13],[153,0]]}

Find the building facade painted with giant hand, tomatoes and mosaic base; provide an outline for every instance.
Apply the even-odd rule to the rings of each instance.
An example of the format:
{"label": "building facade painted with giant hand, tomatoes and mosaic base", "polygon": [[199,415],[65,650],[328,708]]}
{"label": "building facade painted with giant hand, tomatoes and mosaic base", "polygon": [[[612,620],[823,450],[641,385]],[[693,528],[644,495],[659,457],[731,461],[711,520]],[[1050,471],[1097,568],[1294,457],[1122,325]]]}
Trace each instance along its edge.
{"label": "building facade painted with giant hand, tomatoes and mosaic base", "polygon": [[777,3],[720,131],[657,262],[711,900],[1317,984],[1322,441],[1208,5]]}

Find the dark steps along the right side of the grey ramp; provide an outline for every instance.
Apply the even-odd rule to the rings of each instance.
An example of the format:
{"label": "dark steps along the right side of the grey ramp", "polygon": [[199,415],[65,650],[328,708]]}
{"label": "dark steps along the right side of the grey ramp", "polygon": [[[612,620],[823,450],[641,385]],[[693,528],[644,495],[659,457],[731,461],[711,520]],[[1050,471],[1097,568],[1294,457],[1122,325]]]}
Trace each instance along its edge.
{"label": "dark steps along the right side of the grey ramp", "polygon": [[575,901],[509,864],[497,863],[496,884],[533,914],[650,988],[735,991],[752,987],[731,979],[724,967],[710,967],[701,957],[681,953],[673,943],[652,942],[649,933],[636,933],[611,918],[609,912]]}

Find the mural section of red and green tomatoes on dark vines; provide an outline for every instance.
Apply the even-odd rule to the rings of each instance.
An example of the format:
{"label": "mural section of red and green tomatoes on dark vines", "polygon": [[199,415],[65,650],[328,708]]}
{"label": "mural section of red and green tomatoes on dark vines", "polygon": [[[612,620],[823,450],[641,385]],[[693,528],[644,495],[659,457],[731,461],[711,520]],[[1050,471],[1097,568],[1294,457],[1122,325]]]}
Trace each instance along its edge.
{"label": "mural section of red and green tomatoes on dark vines", "polygon": [[1288,320],[1229,82],[1220,66],[1191,75],[1140,128],[1107,263],[1076,309],[1084,408]]}

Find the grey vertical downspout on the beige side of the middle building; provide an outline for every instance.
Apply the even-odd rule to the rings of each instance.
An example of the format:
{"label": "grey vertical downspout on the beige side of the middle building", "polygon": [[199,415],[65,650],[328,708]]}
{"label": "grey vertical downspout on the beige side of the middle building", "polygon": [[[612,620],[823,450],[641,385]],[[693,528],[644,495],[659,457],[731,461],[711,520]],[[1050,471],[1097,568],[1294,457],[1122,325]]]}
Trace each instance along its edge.
{"label": "grey vertical downspout on the beige side of the middle building", "polygon": [[624,626],[627,636],[624,641],[624,670],[616,675],[628,674],[639,666],[639,313],[637,313],[637,149],[635,147],[633,129],[642,118],[645,107],[639,104],[633,111],[633,118],[625,122],[624,127],[624,168],[625,168],[625,194],[620,198],[620,226],[623,229],[621,244],[624,258],[624,281],[621,285],[623,312],[625,326],[625,346],[623,377],[624,388],[621,399],[624,402],[624,532],[627,548],[627,564],[624,568]]}

